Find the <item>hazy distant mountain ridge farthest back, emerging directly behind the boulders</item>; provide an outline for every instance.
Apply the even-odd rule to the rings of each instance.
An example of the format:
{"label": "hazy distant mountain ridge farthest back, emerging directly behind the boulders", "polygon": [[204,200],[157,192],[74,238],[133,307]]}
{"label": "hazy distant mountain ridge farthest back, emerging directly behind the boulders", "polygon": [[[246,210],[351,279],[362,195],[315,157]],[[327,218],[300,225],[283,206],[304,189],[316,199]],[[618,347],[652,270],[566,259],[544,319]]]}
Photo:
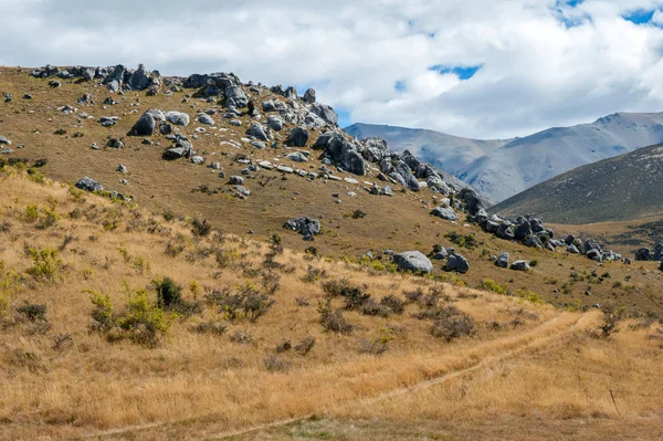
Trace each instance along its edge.
{"label": "hazy distant mountain ridge farthest back, emerging directly behind the boulders", "polygon": [[410,150],[422,160],[441,169],[456,174],[486,154],[506,145],[511,139],[470,139],[434,130],[352,124],[344,129],[357,138],[380,137],[396,151]]}

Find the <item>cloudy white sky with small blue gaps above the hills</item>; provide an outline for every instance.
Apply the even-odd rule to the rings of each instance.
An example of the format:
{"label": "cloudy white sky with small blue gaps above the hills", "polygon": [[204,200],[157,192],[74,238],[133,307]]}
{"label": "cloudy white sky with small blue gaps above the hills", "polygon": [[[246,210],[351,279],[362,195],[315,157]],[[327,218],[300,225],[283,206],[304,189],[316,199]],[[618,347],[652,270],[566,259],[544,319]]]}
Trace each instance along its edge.
{"label": "cloudy white sky with small blue gaps above the hills", "polygon": [[663,112],[663,0],[0,0],[0,65],[234,72],[340,124],[525,136]]}

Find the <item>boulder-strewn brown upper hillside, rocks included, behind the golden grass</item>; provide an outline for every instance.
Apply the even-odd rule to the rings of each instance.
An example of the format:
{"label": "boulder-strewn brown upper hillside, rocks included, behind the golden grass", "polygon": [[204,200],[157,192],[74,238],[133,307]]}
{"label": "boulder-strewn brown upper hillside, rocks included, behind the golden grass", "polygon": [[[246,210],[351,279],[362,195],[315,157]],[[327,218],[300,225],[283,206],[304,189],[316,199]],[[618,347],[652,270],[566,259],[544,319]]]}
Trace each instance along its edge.
{"label": "boulder-strewn brown upper hillside, rocks included, behind the golden grass", "polygon": [[560,260],[628,274],[634,254],[555,235],[537,217],[488,216],[488,200],[409,150],[345,134],[313,90],[144,66],[6,69],[0,81],[9,165],[230,233],[284,234],[329,259],[514,284],[566,307],[612,298],[659,309],[644,291],[551,285]]}

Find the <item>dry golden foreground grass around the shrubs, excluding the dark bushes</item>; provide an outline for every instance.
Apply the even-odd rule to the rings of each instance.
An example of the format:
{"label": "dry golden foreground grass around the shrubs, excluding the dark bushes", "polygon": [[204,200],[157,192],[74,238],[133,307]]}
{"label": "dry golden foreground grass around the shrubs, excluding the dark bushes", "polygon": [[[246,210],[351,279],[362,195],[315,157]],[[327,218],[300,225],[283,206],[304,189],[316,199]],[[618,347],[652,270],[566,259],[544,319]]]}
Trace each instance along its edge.
{"label": "dry golden foreground grass around the shrubs, excluding the dark bushes", "polygon": [[[126,339],[109,343],[90,330],[86,290],[108,293],[119,308],[127,301],[124,283],[139,288],[157,276],[182,285],[187,301],[201,300],[212,288],[260,287],[261,276],[245,270],[261,267],[269,244],[217,233],[197,238],[185,221],[150,219],[91,195],[76,201],[66,186],[35,183],[13,169],[3,174],[0,224],[7,231],[0,233],[0,260],[23,279],[0,327],[0,439],[214,439],[312,414],[330,418],[339,437],[354,419],[400,426],[394,434],[419,420],[451,426],[459,419],[483,421],[486,439],[494,439],[490,421],[497,427],[505,418],[522,427],[543,421],[544,428],[569,419],[603,427],[603,421],[620,418],[627,429],[642,419],[660,421],[659,324],[639,329],[622,325],[620,334],[600,339],[593,336],[598,313],[562,313],[429,279],[309,260],[291,250],[275,258],[285,265],[277,271],[281,286],[272,296],[274,306],[256,323],[225,321],[204,306],[200,315],[177,321],[168,340],[156,348]],[[25,213],[31,204],[54,204],[60,221],[38,229]],[[70,219],[67,213],[76,209],[80,216]],[[109,220],[118,221],[112,231],[104,229]],[[31,261],[25,244],[57,248],[70,235],[73,240],[59,254],[61,277],[48,282],[27,273]],[[175,258],[166,253],[171,241],[186,244]],[[125,261],[118,249],[133,259]],[[204,256],[210,249],[223,249],[232,264],[220,267],[214,253]],[[329,280],[366,284],[377,300],[388,294],[403,298],[403,292],[419,287],[442,290],[444,304],[472,316],[476,334],[452,343],[434,338],[431,322],[413,317],[415,305],[388,318],[345,312],[352,334],[325,332],[316,311],[325,298],[320,283],[302,280],[308,265],[325,270]],[[193,281],[200,293],[188,290]],[[48,306],[50,328],[19,319],[15,308],[25,302]],[[227,332],[211,336],[190,330],[208,319],[225,324]],[[383,329],[393,329],[396,337],[387,353],[360,354],[361,340],[375,340]],[[231,342],[238,330],[251,334],[251,344]],[[55,345],[63,334],[71,336],[71,346]],[[307,356],[276,354],[284,340],[296,344],[306,337],[316,340]],[[290,369],[270,371],[264,363],[270,356]],[[276,431],[276,437],[278,430],[290,429],[266,432]],[[368,439],[355,434],[339,439]]]}

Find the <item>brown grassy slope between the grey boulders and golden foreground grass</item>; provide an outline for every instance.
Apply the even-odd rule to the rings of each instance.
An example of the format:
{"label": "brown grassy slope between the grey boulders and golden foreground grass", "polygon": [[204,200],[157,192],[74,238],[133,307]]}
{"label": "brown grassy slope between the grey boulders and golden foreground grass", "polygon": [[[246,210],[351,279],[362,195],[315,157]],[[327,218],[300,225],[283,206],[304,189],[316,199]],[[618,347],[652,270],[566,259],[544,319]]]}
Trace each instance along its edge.
{"label": "brown grassy slope between the grey boulders and golden foreground grass", "polygon": [[[293,250],[304,250],[311,243],[302,241],[301,237],[294,233],[284,233],[283,222],[293,216],[317,217],[322,219],[324,234],[318,237],[314,244],[325,256],[358,259],[370,249],[380,251],[419,249],[429,252],[436,243],[453,246],[453,243],[444,238],[451,231],[476,234],[481,245],[474,250],[460,251],[472,265],[470,273],[460,277],[472,287],[477,286],[485,279],[491,279],[501,284],[508,284],[514,293],[518,290],[534,291],[543,298],[561,306],[590,307],[594,303],[613,302],[629,308],[663,313],[662,292],[656,288],[663,283],[663,277],[660,273],[651,272],[655,269],[653,263],[645,264],[642,269],[625,267],[617,263],[600,267],[582,258],[526,249],[493,238],[474,227],[452,224],[430,217],[428,213],[433,207],[433,200],[428,191],[421,193],[397,191],[393,198],[376,197],[368,195],[361,186],[335,181],[324,183],[320,180],[308,182],[294,176],[282,180],[274,171],[261,171],[255,179],[246,180],[245,187],[253,193],[248,200],[241,201],[229,195],[228,180],[220,179],[209,168],[194,166],[185,160],[162,161],[160,158],[162,148],[170,145],[164,137],[155,136],[152,138],[155,146],[143,146],[141,138],[126,137],[127,148],[123,150],[91,150],[92,143],[103,146],[109,136],[124,136],[139,115],[148,108],[179,109],[189,113],[194,119],[194,108],[204,109],[211,105],[194,98],[189,103],[182,103],[186,93],[191,91],[155,97],[146,96],[143,92],[127,94],[126,101],[116,96],[116,101],[120,104],[104,109],[101,103],[108,95],[103,87],[72,81],[62,83],[61,88],[51,90],[48,81],[30,77],[28,70],[0,70],[0,90],[12,92],[14,95],[13,103],[0,104],[2,134],[13,140],[14,145],[22,143],[27,146],[24,149],[15,150],[13,156],[31,159],[48,158],[49,164],[43,172],[54,179],[76,181],[83,176],[91,176],[109,189],[134,195],[136,202],[151,212],[162,213],[165,210],[171,210],[182,217],[207,219],[219,230],[235,234],[245,234],[249,230],[253,230],[260,240],[280,233],[284,235],[285,245]],[[84,92],[91,93],[97,104],[77,105],[76,101]],[[25,93],[32,94],[33,99],[21,99]],[[138,106],[131,106],[138,101],[140,102]],[[78,112],[87,112],[95,119],[78,125],[73,115],[65,116],[56,111],[57,106],[67,104],[78,107]],[[138,113],[129,114],[131,111]],[[117,126],[104,128],[96,123],[96,118],[112,115],[122,117]],[[228,176],[238,174],[244,167],[231,159],[235,154],[273,161],[283,160],[283,156],[290,153],[273,149],[260,151],[245,144],[236,149],[223,144],[240,141],[249,120],[242,118],[243,127],[234,128],[228,125],[221,115],[214,118],[219,129],[208,127],[208,133],[193,140],[193,145],[199,153],[203,153],[208,164],[220,161]],[[194,127],[196,124],[191,124],[182,132],[191,135]],[[67,134],[54,135],[53,133],[60,128],[66,129]],[[76,132],[84,136],[74,138],[73,134]],[[314,135],[312,135],[313,139],[315,139]],[[314,151],[312,156],[315,157],[316,153]],[[119,164],[128,167],[128,176],[115,171]],[[317,169],[319,162],[314,158],[305,167]],[[341,174],[341,176],[346,175]],[[119,179],[125,177],[129,181],[128,186],[119,183]],[[366,180],[376,181],[372,176],[367,177]],[[266,183],[263,187],[259,181]],[[191,192],[192,189],[203,185],[211,189],[220,188],[221,192],[217,195]],[[348,191],[355,191],[357,197],[346,196]],[[341,195],[340,204],[335,203],[332,197],[337,192]],[[364,219],[352,219],[350,214],[357,209],[367,212],[368,216]],[[498,270],[488,261],[488,256],[503,251],[508,251],[512,260],[537,260],[539,265],[529,274]],[[435,266],[436,274],[441,274],[441,264]],[[592,296],[585,295],[588,288],[586,282],[576,283],[564,293],[562,284],[569,281],[571,272],[589,275],[592,271],[599,275],[608,272],[611,279],[589,286]],[[627,276],[629,276],[628,283]],[[615,281],[632,285],[632,291],[613,288]]]}

